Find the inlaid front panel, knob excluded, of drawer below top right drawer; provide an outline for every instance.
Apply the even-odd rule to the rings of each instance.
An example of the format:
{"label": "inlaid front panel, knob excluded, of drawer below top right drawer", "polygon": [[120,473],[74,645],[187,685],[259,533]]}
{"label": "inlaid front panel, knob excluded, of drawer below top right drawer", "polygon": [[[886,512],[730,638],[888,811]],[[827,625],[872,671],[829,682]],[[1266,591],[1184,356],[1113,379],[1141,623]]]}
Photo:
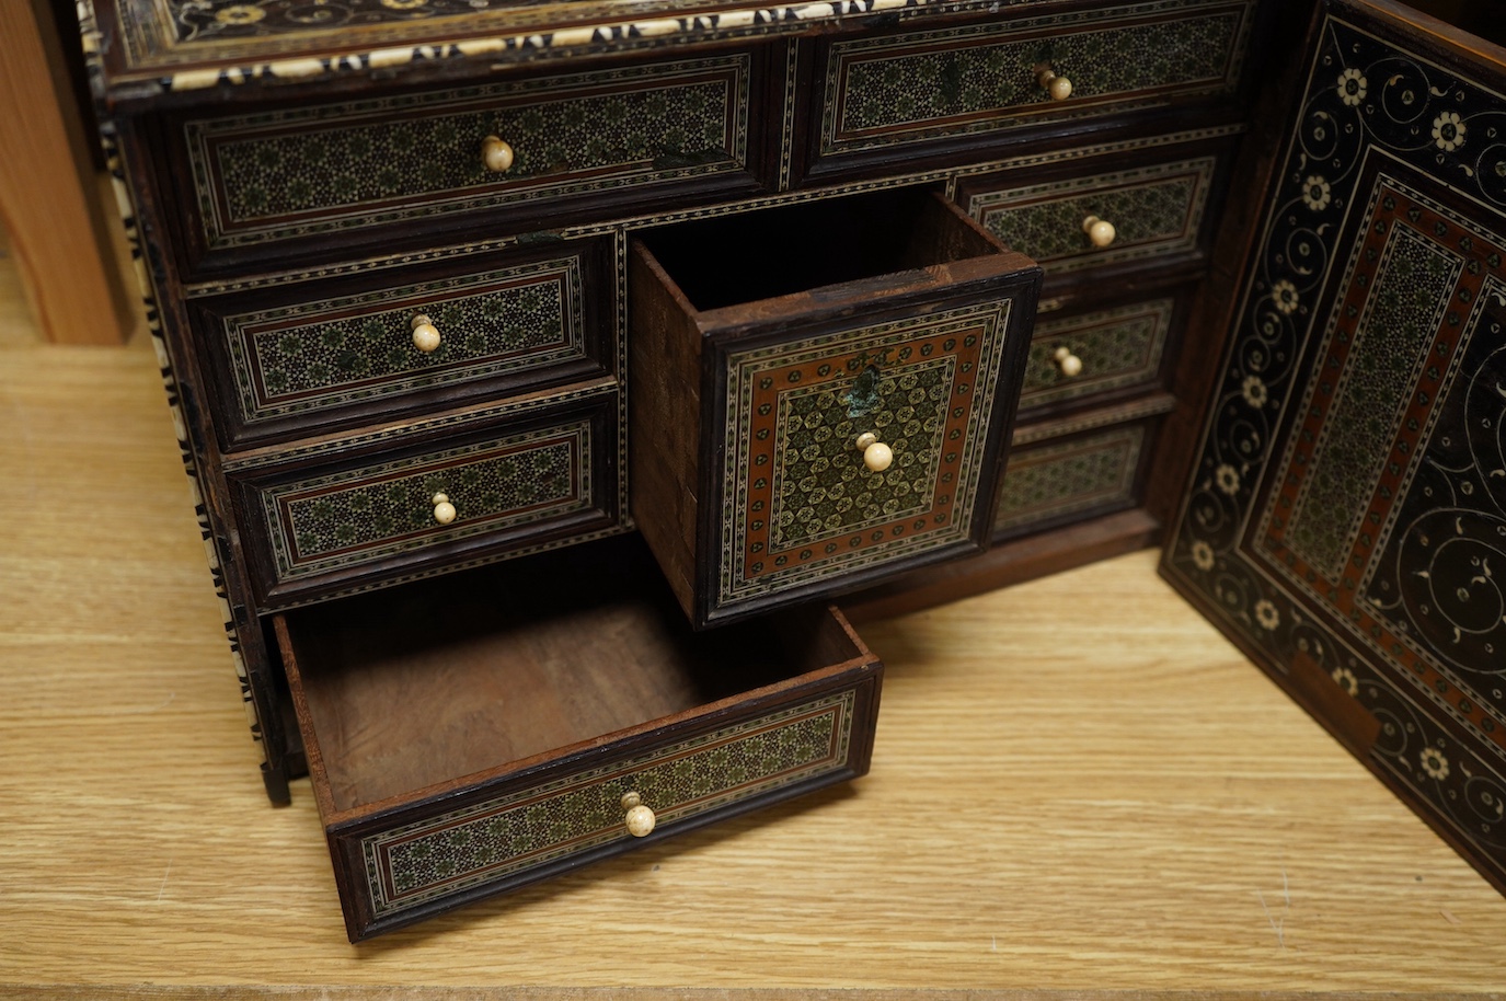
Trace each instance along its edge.
{"label": "inlaid front panel, knob excluded, of drawer below top right drawer", "polygon": [[[1199,251],[1218,167],[1209,155],[1020,187],[974,182],[964,203],[1006,245],[1063,274]],[[1089,218],[1111,223],[1113,242],[1095,247]]]}

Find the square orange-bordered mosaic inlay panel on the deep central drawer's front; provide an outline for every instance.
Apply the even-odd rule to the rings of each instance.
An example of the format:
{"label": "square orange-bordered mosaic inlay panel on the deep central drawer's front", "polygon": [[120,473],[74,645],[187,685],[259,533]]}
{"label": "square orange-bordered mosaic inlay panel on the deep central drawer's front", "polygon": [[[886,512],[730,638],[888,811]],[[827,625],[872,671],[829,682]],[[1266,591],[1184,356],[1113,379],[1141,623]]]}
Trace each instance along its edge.
{"label": "square orange-bordered mosaic inlay panel on the deep central drawer's front", "polygon": [[[721,604],[965,540],[1009,304],[732,352]],[[893,452],[870,471],[854,446]]]}

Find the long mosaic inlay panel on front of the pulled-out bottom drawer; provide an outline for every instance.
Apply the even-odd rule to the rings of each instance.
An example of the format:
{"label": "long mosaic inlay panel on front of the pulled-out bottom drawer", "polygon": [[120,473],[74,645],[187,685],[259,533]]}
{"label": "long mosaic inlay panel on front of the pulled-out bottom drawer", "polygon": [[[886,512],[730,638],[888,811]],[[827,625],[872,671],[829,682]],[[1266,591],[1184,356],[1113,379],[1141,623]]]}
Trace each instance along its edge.
{"label": "long mosaic inlay panel on front of the pulled-out bottom drawer", "polygon": [[846,766],[852,689],[532,786],[360,841],[376,915],[628,838],[620,798],[660,826]]}

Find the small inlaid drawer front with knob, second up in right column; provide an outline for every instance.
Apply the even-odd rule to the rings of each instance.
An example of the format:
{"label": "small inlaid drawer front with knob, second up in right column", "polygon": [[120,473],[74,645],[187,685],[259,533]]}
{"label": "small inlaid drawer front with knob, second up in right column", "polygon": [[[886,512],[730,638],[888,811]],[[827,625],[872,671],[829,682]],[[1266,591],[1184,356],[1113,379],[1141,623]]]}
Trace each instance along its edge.
{"label": "small inlaid drawer front with knob, second up in right column", "polygon": [[1020,409],[1142,385],[1161,369],[1176,300],[1038,321]]}

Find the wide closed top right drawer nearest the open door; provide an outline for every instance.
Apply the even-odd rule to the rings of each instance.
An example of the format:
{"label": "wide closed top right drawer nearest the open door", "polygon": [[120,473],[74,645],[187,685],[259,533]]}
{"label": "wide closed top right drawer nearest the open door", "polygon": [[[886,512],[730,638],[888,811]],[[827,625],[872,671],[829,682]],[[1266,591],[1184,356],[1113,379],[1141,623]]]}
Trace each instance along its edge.
{"label": "wide closed top right drawer nearest the open door", "polygon": [[896,149],[976,161],[980,143],[1018,143],[1021,129],[1060,135],[1232,98],[1254,6],[1155,0],[827,42],[810,173],[878,166]]}

